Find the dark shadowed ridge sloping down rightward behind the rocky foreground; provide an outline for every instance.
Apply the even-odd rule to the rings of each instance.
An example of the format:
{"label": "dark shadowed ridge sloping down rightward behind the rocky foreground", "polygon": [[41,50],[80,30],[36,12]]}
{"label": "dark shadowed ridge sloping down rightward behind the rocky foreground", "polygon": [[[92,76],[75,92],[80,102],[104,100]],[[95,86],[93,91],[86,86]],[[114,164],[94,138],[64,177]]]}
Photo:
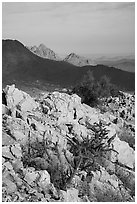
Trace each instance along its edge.
{"label": "dark shadowed ridge sloping down rightward behind the rocky foreground", "polygon": [[88,70],[95,79],[106,75],[111,83],[122,90],[135,90],[135,74],[104,65],[77,67],[64,61],[53,61],[36,56],[17,40],[2,41],[3,82],[16,79],[18,82],[43,80],[62,86],[80,82]]}

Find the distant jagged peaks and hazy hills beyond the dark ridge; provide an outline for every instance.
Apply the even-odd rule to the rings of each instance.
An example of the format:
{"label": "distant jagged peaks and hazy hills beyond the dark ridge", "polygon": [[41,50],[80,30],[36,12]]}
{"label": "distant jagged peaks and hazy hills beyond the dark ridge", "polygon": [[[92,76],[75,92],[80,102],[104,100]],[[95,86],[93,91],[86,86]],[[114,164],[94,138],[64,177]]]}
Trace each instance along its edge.
{"label": "distant jagged peaks and hazy hills beyond the dark ridge", "polygon": [[30,46],[27,47],[31,52],[34,54],[51,60],[56,61],[65,61],[70,64],[73,64],[75,66],[87,66],[87,65],[97,65],[97,64],[103,64],[107,65],[109,67],[115,67],[124,71],[128,72],[135,72],[135,59],[129,58],[129,57],[113,57],[113,58],[106,58],[106,57],[100,57],[96,59],[86,58],[80,55],[77,55],[75,53],[70,53],[65,58],[59,57],[58,54],[56,54],[53,50],[50,48],[47,48],[44,44],[40,44],[37,46]]}

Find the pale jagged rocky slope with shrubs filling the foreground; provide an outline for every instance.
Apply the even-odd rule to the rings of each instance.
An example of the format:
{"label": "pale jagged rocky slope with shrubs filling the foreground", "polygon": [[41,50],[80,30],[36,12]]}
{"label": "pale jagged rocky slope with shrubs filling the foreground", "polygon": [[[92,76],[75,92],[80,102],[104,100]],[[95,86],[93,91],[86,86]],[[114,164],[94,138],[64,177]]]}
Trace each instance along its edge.
{"label": "pale jagged rocky slope with shrubs filling the foreground", "polygon": [[135,201],[134,96],[99,110],[75,94],[33,99],[12,85],[2,99],[4,202]]}

